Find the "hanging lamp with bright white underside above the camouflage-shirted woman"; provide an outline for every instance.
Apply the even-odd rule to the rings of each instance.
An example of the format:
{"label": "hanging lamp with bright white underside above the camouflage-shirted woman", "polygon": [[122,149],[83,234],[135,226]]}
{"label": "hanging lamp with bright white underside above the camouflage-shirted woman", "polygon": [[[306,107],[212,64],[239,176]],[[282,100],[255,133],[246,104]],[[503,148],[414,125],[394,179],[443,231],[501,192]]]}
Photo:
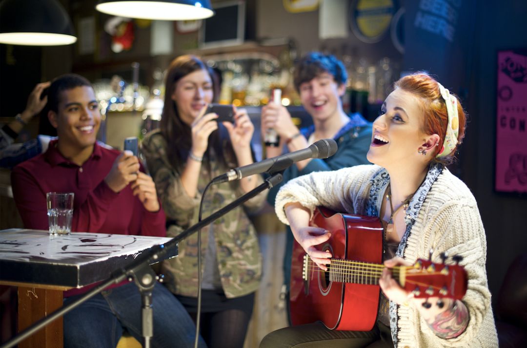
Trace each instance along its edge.
{"label": "hanging lamp with bright white underside above the camouflage-shirted woman", "polygon": [[160,21],[187,21],[214,15],[209,0],[103,0],[95,8],[114,16]]}

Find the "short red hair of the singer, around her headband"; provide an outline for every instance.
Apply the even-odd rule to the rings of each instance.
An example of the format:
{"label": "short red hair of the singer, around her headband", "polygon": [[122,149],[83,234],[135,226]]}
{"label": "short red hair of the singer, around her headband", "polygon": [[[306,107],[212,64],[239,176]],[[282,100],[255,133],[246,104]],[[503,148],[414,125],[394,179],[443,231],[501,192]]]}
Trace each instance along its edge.
{"label": "short red hair of the singer, around her headband", "polygon": [[[421,102],[421,107],[424,112],[424,120],[422,124],[422,131],[425,134],[438,134],[440,136],[439,144],[436,147],[435,155],[443,148],[443,142],[445,141],[446,127],[448,125],[448,113],[446,111],[445,100],[441,96],[439,85],[434,78],[423,74],[416,73],[401,77],[395,82],[394,87],[401,88],[401,90],[414,94],[418,97]],[[454,161],[457,147],[463,141],[465,136],[466,127],[466,116],[461,106],[459,98],[454,95],[457,99],[457,114],[459,119],[459,132],[457,135],[457,145],[451,153],[437,158],[434,156],[434,161],[443,163],[444,165],[450,164]]]}

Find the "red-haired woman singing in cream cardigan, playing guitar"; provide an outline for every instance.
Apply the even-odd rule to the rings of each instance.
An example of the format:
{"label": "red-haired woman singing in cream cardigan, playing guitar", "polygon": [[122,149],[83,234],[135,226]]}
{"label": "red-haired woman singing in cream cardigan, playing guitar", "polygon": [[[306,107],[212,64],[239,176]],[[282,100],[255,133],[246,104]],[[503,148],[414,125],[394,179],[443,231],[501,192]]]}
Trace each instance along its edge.
{"label": "red-haired woman singing in cream cardigan, playing guitar", "polygon": [[[331,232],[308,226],[316,206],[378,216],[387,268],[372,331],[299,325],[270,333],[262,347],[497,347],[480,213],[469,188],[445,167],[464,133],[465,114],[455,95],[428,75],[405,76],[373,123],[367,158],[374,165],[312,173],[282,187],[276,212],[321,269],[327,270],[332,255],[317,246]],[[392,278],[389,268],[427,259],[430,250],[434,262],[442,253],[463,257],[463,300],[416,299]]]}

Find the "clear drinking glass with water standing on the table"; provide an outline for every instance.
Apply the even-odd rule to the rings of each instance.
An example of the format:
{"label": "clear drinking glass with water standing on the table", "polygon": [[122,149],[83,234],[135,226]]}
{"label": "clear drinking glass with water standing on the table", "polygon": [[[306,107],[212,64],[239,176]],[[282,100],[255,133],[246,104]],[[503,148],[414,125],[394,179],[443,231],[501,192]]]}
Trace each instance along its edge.
{"label": "clear drinking glass with water standing on the table", "polygon": [[73,192],[46,193],[47,222],[50,226],[50,234],[70,234],[73,196]]}

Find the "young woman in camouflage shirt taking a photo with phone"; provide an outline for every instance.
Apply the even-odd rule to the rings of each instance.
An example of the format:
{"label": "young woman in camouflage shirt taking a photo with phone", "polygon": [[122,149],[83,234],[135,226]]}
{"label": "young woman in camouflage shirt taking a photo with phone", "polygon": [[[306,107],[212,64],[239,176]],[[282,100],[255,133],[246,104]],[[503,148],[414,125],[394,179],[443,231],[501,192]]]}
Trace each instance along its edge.
{"label": "young woman in camouflage shirt taking a photo with phone", "polygon": [[[214,75],[199,58],[180,56],[170,64],[161,129],[148,134],[143,153],[167,214],[167,234],[176,236],[198,222],[199,203],[213,177],[253,163],[254,126],[245,110],[233,107],[235,123],[217,122],[206,113],[213,101]],[[213,185],[204,198],[206,217],[262,183],[260,176]],[[254,293],[261,276],[255,228],[247,209],[256,209],[266,193],[251,198],[202,231],[201,334],[209,347],[242,347]],[[164,261],[165,284],[197,314],[197,235],[179,243],[179,256]]]}

